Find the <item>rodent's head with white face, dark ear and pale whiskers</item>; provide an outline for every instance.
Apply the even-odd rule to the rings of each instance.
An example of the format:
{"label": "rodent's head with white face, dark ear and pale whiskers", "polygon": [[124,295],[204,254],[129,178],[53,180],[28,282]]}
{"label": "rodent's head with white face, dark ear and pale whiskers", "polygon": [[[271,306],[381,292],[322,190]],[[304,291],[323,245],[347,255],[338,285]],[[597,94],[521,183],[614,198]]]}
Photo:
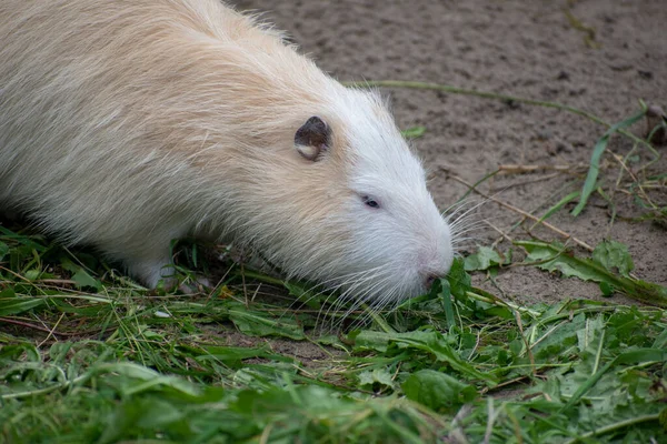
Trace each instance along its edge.
{"label": "rodent's head with white face, dark ear and pale whiskers", "polygon": [[454,256],[424,168],[379,95],[347,90],[331,102],[299,117],[282,153],[292,194],[278,198],[291,220],[258,246],[289,274],[375,306],[422,294]]}

